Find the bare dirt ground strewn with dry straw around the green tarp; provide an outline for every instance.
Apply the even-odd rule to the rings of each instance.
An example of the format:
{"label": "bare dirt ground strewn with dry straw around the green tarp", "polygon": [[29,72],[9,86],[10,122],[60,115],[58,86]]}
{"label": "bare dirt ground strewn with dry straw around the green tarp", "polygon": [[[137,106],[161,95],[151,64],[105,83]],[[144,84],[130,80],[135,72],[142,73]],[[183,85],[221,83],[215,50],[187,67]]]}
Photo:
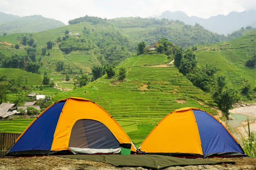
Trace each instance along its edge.
{"label": "bare dirt ground strewn with dry straw around the green tarp", "polygon": [[[164,170],[256,170],[256,158],[207,158],[212,161],[236,161],[235,164],[176,166]],[[67,159],[56,156],[0,158],[0,170],[146,170],[141,167],[117,168],[108,163]]]}

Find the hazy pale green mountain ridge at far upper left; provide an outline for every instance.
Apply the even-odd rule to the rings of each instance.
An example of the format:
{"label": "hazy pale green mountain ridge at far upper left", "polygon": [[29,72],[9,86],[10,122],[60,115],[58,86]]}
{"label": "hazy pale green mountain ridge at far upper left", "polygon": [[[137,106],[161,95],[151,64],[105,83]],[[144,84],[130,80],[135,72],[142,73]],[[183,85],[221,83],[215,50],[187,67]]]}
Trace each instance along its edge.
{"label": "hazy pale green mountain ridge at far upper left", "polygon": [[48,29],[65,26],[61,21],[45,18],[42,15],[19,17],[0,12],[0,35],[3,32],[11,33],[36,33]]}

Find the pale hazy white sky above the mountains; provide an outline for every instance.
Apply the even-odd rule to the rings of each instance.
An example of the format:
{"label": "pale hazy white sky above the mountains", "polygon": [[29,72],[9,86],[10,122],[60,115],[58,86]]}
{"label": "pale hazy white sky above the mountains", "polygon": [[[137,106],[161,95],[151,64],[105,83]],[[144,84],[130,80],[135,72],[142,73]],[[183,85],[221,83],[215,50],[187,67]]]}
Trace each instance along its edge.
{"label": "pale hazy white sky above the mountains", "polygon": [[108,19],[146,18],[164,11],[184,11],[189,16],[209,18],[255,9],[256,0],[0,0],[1,12],[18,16],[43,15],[65,24],[85,15]]}

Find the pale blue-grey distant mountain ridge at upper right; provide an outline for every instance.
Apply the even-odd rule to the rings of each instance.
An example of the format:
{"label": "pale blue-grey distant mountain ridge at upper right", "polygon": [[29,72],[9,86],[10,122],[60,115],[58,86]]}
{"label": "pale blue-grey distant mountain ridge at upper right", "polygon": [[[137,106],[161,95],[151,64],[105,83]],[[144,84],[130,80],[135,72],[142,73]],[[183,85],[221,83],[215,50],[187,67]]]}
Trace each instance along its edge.
{"label": "pale blue-grey distant mountain ridge at upper right", "polygon": [[243,11],[240,13],[231,12],[228,15],[217,15],[212,16],[208,19],[199,18],[196,16],[189,17],[186,13],[182,11],[165,11],[161,15],[156,16],[156,18],[180,20],[190,25],[195,25],[195,23],[198,23],[205,29],[225,35],[237,31],[241,27],[252,26],[255,28],[256,25],[256,11]]}

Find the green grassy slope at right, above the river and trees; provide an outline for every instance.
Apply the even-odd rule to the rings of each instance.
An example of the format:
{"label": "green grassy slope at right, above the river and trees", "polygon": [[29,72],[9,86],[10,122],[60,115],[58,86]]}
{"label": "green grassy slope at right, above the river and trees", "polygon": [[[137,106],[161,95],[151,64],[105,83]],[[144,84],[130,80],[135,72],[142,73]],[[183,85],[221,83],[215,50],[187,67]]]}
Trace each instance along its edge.
{"label": "green grassy slope at right, above the river and trees", "polygon": [[251,59],[248,56],[248,51],[254,51],[255,54],[255,49],[255,31],[252,31],[229,42],[198,46],[195,55],[198,66],[216,65],[220,69],[217,75],[224,75],[227,78],[228,86],[240,91],[243,87],[243,78],[249,80],[252,89],[256,86],[255,68],[245,66],[247,60]]}

